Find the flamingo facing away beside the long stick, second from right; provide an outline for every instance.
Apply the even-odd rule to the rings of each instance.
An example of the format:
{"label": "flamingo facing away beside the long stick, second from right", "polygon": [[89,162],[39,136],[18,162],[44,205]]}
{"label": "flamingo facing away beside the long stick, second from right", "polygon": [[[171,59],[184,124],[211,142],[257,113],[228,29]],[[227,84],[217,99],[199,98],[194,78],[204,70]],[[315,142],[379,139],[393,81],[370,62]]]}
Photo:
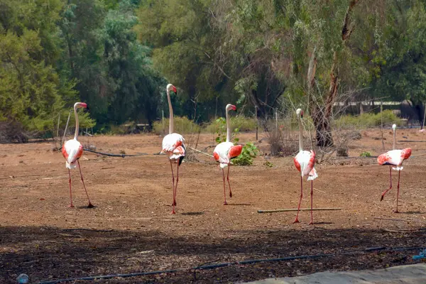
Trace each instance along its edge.
{"label": "flamingo facing away beside the long stick, second from right", "polygon": [[311,181],[311,222],[310,225],[314,224],[314,220],[312,217],[312,196],[314,194],[314,180],[318,178],[317,171],[315,170],[315,152],[314,151],[303,151],[303,133],[302,133],[302,118],[303,118],[303,111],[302,109],[296,110],[297,114],[297,121],[299,121],[299,153],[294,158],[295,166],[297,170],[300,172],[300,200],[299,200],[299,206],[297,207],[297,214],[295,222],[299,222],[299,211],[300,211],[300,202],[302,202],[303,197],[303,177],[307,175],[307,180]]}

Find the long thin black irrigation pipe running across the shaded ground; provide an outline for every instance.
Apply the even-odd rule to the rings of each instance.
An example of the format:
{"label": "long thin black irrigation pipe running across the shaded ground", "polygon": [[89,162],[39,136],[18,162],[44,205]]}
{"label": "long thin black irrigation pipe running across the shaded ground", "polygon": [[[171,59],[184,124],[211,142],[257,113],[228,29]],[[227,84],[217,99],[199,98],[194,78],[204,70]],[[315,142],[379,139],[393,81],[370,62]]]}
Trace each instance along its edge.
{"label": "long thin black irrigation pipe running across the shaded ground", "polygon": [[78,278],[67,278],[67,279],[59,279],[59,280],[49,280],[49,281],[41,281],[38,284],[57,284],[67,281],[77,281],[77,280],[97,280],[97,279],[111,279],[116,277],[121,278],[128,278],[128,277],[135,277],[135,276],[146,276],[146,275],[155,275],[155,274],[162,274],[162,273],[176,273],[180,271],[188,271],[188,270],[208,270],[208,269],[215,269],[215,268],[221,268],[225,266],[235,266],[235,265],[241,265],[241,264],[253,264],[253,263],[262,263],[262,262],[275,262],[275,261],[294,261],[297,259],[315,259],[315,258],[322,258],[322,257],[328,257],[328,256],[347,256],[352,254],[358,254],[358,253],[371,253],[374,251],[415,251],[415,250],[422,250],[425,249],[425,247],[420,246],[403,246],[403,247],[388,247],[386,246],[378,246],[373,248],[364,249],[363,251],[346,251],[344,253],[319,253],[319,254],[312,254],[307,256],[287,256],[283,258],[265,258],[265,259],[251,259],[247,261],[234,261],[234,262],[228,262],[228,263],[218,263],[218,264],[211,264],[207,266],[197,266],[193,268],[177,268],[177,269],[169,269],[165,271],[148,271],[148,272],[137,272],[137,273],[124,273],[124,274],[109,274],[109,275],[97,275],[97,276],[87,276],[87,277],[78,277]]}

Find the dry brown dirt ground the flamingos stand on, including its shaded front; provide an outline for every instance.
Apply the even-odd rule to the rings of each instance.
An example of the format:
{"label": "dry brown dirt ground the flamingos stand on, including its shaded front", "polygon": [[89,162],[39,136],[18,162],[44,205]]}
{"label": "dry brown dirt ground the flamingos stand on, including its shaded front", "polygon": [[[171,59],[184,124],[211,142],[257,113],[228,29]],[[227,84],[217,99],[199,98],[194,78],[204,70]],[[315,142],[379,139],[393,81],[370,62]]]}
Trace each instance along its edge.
{"label": "dry brown dirt ground the flamingos stand on, including its shaded front", "polygon": [[[329,269],[338,271],[386,268],[414,263],[413,251],[370,251],[426,246],[426,140],[417,130],[399,130],[398,148],[413,154],[401,173],[400,214],[393,212],[394,188],[388,187],[388,167],[359,153],[382,153],[380,131],[363,131],[352,141],[352,158],[332,158],[317,165],[314,207],[340,211],[259,214],[258,209],[297,207],[300,178],[293,158],[259,156],[254,165],[231,167],[233,197],[224,206],[222,173],[209,157],[182,163],[177,214],[172,201],[170,164],[155,135],[81,137],[85,146],[109,153],[148,153],[135,157],[107,157],[84,152],[80,159],[92,203],[88,209],[78,170],[72,170],[75,208],[69,208],[68,174],[62,154],[53,143],[0,145],[0,283],[15,283],[27,273],[31,283],[116,273],[138,273],[180,268],[96,283],[235,283],[268,277],[301,275]],[[406,138],[403,138],[405,136]],[[261,138],[263,136],[261,135]],[[391,132],[385,131],[386,151]],[[253,141],[253,133],[240,142]],[[198,149],[214,145],[214,135],[202,134]],[[266,139],[257,143],[268,152]],[[207,148],[212,153],[213,148]],[[268,160],[272,168],[264,163]],[[302,207],[310,207],[305,180]],[[359,253],[343,254],[349,251]],[[364,252],[363,252],[364,251]],[[333,253],[314,259],[232,264],[193,269],[203,263]],[[76,280],[68,283],[87,283]],[[90,282],[90,281],[89,281]],[[93,281],[92,281],[93,282]],[[92,283],[91,282],[91,283]]]}

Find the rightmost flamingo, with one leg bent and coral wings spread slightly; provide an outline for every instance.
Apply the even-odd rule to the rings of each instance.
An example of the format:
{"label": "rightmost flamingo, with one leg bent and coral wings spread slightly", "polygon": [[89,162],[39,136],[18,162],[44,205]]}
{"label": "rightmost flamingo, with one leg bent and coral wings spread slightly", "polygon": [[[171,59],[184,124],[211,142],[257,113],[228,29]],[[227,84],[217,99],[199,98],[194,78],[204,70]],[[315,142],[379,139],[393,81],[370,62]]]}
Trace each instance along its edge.
{"label": "rightmost flamingo, with one leg bent and coral wings spread slightly", "polygon": [[393,150],[388,151],[384,154],[381,154],[377,157],[377,162],[379,165],[389,165],[389,177],[391,180],[391,185],[387,190],[385,190],[382,195],[380,201],[383,200],[383,197],[385,197],[386,193],[392,189],[392,169],[398,170],[398,185],[397,185],[397,194],[396,194],[396,211],[398,212],[398,200],[399,200],[399,181],[400,181],[400,173],[401,170],[403,170],[403,161],[410,158],[411,155],[411,148],[405,148],[403,150],[396,150],[396,124],[393,124],[392,126],[393,130]]}

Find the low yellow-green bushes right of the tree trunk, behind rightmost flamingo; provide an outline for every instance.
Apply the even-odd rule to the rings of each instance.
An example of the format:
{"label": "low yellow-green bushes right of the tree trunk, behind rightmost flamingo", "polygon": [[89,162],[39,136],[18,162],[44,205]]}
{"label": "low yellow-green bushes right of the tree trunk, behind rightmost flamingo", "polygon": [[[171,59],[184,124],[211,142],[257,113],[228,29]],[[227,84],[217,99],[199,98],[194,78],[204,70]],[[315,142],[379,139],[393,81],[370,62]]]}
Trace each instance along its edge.
{"label": "low yellow-green bushes right of the tree trunk, behind rightmost flamingo", "polygon": [[[393,111],[387,109],[383,111],[383,124],[397,124],[402,125],[402,120],[396,116]],[[340,116],[339,119],[334,120],[334,125],[339,128],[349,126],[359,127],[376,127],[381,125],[381,114],[364,113],[359,116]]]}

